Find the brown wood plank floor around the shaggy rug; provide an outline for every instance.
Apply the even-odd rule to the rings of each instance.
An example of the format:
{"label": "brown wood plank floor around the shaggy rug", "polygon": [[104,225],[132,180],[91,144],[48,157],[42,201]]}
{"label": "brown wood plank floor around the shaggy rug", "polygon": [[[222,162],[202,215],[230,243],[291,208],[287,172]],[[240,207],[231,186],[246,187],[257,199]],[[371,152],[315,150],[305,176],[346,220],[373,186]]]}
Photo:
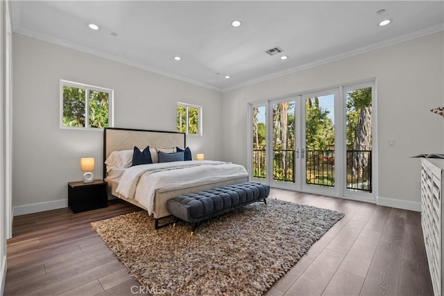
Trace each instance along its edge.
{"label": "brown wood plank floor around the shaggy rug", "polygon": [[[270,198],[345,217],[266,295],[433,295],[418,212],[279,189]],[[138,210],[114,200],[15,217],[5,295],[146,295],[89,225]]]}

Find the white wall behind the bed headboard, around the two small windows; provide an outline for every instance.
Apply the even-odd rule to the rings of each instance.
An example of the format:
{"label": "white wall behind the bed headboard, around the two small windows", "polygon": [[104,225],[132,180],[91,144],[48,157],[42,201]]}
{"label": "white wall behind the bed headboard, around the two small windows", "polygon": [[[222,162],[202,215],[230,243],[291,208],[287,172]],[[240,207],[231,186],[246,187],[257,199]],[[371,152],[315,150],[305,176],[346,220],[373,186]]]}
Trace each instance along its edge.
{"label": "white wall behind the bed headboard, around the two small windows", "polygon": [[[187,146],[207,159],[221,158],[220,92],[15,34],[15,215],[67,207],[67,182],[83,175],[80,157],[95,157],[94,176],[102,177],[103,132],[59,128],[60,79],[114,89],[119,128],[175,131],[176,103],[200,105],[203,137],[187,137]],[[42,202],[49,203],[28,206]]]}

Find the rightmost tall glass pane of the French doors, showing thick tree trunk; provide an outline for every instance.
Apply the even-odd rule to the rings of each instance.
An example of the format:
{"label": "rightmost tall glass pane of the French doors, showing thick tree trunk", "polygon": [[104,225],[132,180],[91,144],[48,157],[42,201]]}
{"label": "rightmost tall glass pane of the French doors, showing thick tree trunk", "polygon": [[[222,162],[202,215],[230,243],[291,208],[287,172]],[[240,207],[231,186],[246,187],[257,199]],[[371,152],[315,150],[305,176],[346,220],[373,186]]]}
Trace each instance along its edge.
{"label": "rightmost tall glass pane of the French doors, showing thick tree trunk", "polygon": [[347,189],[372,192],[372,88],[346,92]]}

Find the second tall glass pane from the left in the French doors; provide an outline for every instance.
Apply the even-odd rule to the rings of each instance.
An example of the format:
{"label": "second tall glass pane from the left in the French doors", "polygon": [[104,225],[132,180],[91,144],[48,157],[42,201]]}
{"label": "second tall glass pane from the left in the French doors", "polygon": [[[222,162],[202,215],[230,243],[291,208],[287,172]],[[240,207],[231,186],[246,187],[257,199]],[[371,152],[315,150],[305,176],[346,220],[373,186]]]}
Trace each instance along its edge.
{"label": "second tall glass pane from the left in the French doors", "polygon": [[273,104],[273,180],[294,182],[294,101]]}

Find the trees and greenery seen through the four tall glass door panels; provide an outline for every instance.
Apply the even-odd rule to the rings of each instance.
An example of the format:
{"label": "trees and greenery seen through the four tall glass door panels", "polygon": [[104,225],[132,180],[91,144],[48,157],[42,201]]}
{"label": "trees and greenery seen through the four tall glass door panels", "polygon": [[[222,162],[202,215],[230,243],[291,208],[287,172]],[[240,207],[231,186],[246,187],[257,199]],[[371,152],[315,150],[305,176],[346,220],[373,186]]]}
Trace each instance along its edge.
{"label": "trees and greenery seen through the four tall glass door panels", "polygon": [[[359,182],[356,188],[368,191],[371,190],[368,188],[371,182],[371,92],[371,87],[348,92],[345,110],[348,182]],[[330,110],[320,104],[323,99],[305,100],[306,182],[334,186],[334,121]],[[273,180],[294,181],[294,102],[274,104],[272,111]],[[253,107],[253,171],[257,177],[266,177],[266,123],[258,120],[261,112],[265,112],[264,106]]]}

